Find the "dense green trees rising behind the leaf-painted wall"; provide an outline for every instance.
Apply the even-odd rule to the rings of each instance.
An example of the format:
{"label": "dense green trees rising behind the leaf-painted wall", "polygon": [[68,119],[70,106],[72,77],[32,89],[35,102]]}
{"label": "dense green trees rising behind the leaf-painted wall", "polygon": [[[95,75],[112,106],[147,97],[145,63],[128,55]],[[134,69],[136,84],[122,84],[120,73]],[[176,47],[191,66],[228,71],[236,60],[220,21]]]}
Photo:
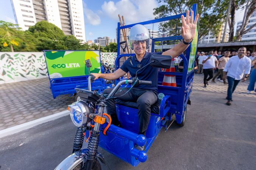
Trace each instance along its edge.
{"label": "dense green trees rising behind the leaf-painted wall", "polygon": [[[98,50],[98,45],[88,43],[82,44],[73,35],[65,35],[60,28],[47,21],[37,22],[30,26],[28,30],[21,31],[17,24],[12,24],[0,20],[0,51],[10,52],[10,45],[4,47],[4,42],[14,39],[18,46],[13,46],[18,52],[40,52],[42,50]],[[10,33],[8,41],[7,31]],[[117,45],[110,44],[107,49],[101,48],[102,52],[117,51]]]}

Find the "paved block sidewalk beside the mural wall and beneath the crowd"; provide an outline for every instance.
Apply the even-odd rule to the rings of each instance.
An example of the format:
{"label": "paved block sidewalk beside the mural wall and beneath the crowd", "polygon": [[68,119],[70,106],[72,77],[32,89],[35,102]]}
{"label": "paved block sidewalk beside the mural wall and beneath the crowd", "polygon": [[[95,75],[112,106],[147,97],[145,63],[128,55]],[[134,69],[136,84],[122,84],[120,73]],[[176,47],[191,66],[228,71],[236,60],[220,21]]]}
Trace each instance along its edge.
{"label": "paved block sidewalk beside the mural wall and beneath the crowd", "polygon": [[[196,74],[193,89],[223,93],[225,98],[228,86],[218,80],[216,82],[209,82],[208,88],[203,88],[203,75]],[[240,82],[234,96],[247,96],[255,100],[254,92],[246,93],[248,84],[249,80]],[[73,101],[74,97],[69,95],[53,99],[48,78],[0,84],[0,130],[62,112]]]}

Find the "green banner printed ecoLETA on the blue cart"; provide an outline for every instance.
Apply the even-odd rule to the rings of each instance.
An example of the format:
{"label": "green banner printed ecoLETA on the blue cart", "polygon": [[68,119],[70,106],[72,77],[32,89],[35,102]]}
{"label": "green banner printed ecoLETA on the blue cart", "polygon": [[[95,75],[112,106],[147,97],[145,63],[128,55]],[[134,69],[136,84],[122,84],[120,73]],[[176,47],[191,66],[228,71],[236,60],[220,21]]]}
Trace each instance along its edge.
{"label": "green banner printed ecoLETA on the blue cart", "polygon": [[100,51],[45,51],[50,79],[88,75],[85,60],[90,59],[91,73],[101,73]]}

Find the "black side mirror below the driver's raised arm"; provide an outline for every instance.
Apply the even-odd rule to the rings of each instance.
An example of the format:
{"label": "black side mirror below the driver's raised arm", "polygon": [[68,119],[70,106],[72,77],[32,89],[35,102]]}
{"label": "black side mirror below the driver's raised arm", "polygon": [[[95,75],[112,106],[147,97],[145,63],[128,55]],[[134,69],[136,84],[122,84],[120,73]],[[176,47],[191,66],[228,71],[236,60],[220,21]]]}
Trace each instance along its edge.
{"label": "black side mirror below the driver's raised arm", "polygon": [[150,66],[157,68],[170,68],[172,65],[172,56],[153,54],[150,57]]}

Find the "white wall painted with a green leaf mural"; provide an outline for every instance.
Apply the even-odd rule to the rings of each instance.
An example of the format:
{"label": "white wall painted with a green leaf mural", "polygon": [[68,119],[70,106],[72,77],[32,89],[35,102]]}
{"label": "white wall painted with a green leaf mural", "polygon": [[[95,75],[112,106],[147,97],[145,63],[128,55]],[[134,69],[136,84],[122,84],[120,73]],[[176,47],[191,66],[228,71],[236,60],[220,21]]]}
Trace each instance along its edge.
{"label": "white wall painted with a green leaf mural", "polygon": [[[115,64],[117,53],[101,53],[101,61]],[[48,77],[43,52],[0,52],[0,84]]]}

